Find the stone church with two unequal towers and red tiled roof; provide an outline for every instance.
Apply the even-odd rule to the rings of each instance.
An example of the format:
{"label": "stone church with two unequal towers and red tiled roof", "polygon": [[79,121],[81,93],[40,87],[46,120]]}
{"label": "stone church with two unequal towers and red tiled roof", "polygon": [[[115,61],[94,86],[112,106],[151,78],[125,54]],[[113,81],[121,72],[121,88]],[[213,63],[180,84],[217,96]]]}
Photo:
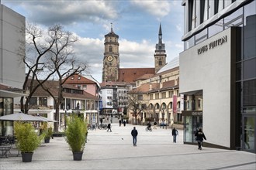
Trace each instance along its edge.
{"label": "stone church with two unequal towers and red tiled roof", "polygon": [[154,68],[119,68],[119,36],[112,30],[105,36],[105,50],[102,69],[103,82],[134,83],[140,76],[154,75],[166,64],[164,43],[162,42],[161,24],[159,26],[158,43],[154,53]]}

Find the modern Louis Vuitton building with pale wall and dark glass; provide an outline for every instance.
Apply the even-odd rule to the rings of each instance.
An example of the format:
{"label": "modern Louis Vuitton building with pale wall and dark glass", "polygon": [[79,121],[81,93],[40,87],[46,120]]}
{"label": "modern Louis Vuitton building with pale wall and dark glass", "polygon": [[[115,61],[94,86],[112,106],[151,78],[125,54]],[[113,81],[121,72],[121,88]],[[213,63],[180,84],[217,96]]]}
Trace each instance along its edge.
{"label": "modern Louis Vuitton building with pale wall and dark glass", "polygon": [[256,2],[184,0],[184,143],[256,153]]}

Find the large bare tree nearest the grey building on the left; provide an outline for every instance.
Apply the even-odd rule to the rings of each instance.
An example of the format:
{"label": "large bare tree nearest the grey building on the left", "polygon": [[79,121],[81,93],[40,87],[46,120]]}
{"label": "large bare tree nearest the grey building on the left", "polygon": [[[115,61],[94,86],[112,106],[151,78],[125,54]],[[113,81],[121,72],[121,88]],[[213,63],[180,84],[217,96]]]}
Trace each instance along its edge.
{"label": "large bare tree nearest the grey building on the left", "polygon": [[[39,79],[38,76],[41,75],[40,73],[43,72],[45,67],[44,62],[47,60],[47,54],[53,48],[54,42],[56,41],[55,37],[52,36],[52,32],[54,30],[49,29],[47,35],[45,35],[43,30],[38,26],[30,24],[26,26],[26,42],[21,42],[22,44],[26,44],[26,46],[22,46],[23,49],[20,49],[21,52],[19,53],[22,62],[26,65],[26,70],[28,70],[22,86],[22,90],[26,90],[28,96],[26,100],[24,100],[24,97],[20,99],[20,109],[25,114],[29,111],[29,100],[33,96],[33,93],[54,74],[54,72],[49,73],[45,71],[47,75],[43,77],[42,81],[37,81]],[[26,54],[22,53],[25,51]]]}

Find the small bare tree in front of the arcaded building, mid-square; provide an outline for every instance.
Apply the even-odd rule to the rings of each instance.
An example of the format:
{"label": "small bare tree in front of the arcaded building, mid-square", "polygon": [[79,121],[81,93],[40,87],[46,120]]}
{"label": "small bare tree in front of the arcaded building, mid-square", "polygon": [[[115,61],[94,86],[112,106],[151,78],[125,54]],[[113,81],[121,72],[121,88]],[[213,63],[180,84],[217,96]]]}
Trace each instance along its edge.
{"label": "small bare tree in front of the arcaded building, mid-square", "polygon": [[135,117],[135,124],[137,124],[137,116],[144,110],[145,104],[140,98],[142,92],[138,89],[130,90],[128,92],[128,107],[132,110],[133,117]]}

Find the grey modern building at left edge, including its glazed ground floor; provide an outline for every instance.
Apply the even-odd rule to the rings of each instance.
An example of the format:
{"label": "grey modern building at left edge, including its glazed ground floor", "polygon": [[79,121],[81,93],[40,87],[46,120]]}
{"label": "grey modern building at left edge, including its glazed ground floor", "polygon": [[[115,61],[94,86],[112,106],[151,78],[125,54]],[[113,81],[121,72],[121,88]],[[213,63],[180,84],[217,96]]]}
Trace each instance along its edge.
{"label": "grey modern building at left edge, including its glazed ground floor", "polygon": [[[16,99],[25,96],[25,17],[0,2],[0,116],[13,114]],[[23,49],[23,50],[22,50]],[[0,136],[13,133],[12,121],[0,121]]]}

